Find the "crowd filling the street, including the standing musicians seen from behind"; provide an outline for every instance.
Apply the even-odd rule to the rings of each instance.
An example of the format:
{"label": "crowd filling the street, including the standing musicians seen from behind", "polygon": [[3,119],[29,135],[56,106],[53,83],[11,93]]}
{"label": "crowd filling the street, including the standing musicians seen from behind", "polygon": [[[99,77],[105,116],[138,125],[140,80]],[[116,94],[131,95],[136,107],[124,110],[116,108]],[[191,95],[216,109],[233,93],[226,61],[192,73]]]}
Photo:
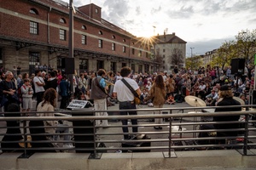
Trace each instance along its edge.
{"label": "crowd filling the street, including the standing musicians seen from behind", "polygon": [[[253,89],[254,70],[248,65],[244,74],[232,75],[230,68],[229,66],[220,71],[218,67],[207,66],[191,71],[178,70],[175,67],[171,74],[164,71],[153,74],[137,73],[132,72],[129,67],[123,67],[117,72],[106,72],[103,69],[96,72],[84,71],[79,75],[75,71],[72,90],[67,75],[62,74],[60,70],[46,72],[38,68],[30,77],[28,73],[15,77],[12,71],[6,71],[1,72],[0,77],[1,106],[4,111],[8,111],[9,105],[21,105],[21,111],[29,114],[32,110],[32,99],[37,99],[37,111],[54,111],[58,100],[61,100],[60,108],[67,109],[71,99],[89,99],[96,111],[102,111],[97,112],[96,116],[108,116],[106,111],[109,105],[119,103],[119,110],[136,109],[133,91],[139,95],[142,105],[155,108],[183,102],[187,95],[201,98],[207,105],[218,105],[219,90],[224,85],[229,87],[232,94],[248,104],[248,92]],[[137,115],[136,111],[120,113]],[[155,111],[154,114],[160,114],[160,111]],[[162,119],[154,121],[158,125],[154,128],[162,129]],[[137,125],[137,120],[131,119],[131,123]],[[122,124],[127,125],[127,120],[122,120]],[[44,122],[44,125],[55,126],[55,123]],[[97,120],[96,125],[108,127],[108,120]],[[61,128],[67,130],[65,127]],[[132,131],[137,133],[137,127],[133,127]],[[124,139],[131,138],[127,127],[123,127],[123,132]]]}

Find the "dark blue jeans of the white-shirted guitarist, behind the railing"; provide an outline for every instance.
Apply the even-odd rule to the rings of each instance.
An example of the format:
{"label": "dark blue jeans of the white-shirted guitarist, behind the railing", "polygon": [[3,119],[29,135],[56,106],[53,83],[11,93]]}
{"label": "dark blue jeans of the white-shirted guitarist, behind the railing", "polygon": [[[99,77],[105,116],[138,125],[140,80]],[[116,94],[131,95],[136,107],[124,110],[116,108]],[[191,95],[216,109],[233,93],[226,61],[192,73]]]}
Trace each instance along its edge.
{"label": "dark blue jeans of the white-shirted guitarist, behind the railing", "polygon": [[[131,101],[119,102],[119,110],[127,110],[127,109],[137,109],[135,103],[131,103]],[[137,111],[121,111],[120,115],[137,115]],[[122,125],[127,126],[128,120],[122,119]],[[137,119],[131,119],[132,125],[137,125]],[[122,127],[123,133],[129,133],[128,127]],[[137,127],[132,127],[132,132],[137,133]],[[124,134],[124,138],[128,139],[129,135]]]}

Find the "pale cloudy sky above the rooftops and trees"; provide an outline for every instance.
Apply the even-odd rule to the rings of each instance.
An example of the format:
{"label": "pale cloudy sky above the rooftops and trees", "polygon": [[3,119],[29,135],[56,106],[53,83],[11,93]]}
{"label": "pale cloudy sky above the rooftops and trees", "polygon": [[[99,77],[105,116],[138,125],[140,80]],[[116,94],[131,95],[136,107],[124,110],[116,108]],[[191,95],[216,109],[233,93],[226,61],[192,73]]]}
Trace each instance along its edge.
{"label": "pale cloudy sky above the rooftops and trees", "polygon": [[193,55],[205,54],[256,29],[256,0],[73,0],[75,7],[89,3],[102,8],[102,19],[136,37],[175,32],[187,42],[186,56],[191,48]]}

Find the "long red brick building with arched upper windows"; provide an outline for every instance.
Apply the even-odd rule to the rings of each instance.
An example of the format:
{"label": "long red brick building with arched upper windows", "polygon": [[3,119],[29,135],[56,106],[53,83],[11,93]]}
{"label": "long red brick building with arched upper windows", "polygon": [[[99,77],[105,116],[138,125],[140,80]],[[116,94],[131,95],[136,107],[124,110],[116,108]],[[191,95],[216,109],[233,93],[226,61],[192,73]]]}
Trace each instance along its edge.
{"label": "long red brick building with arched upper windows", "polygon": [[[153,71],[151,45],[102,19],[93,3],[75,8],[74,66],[79,71]],[[35,65],[61,69],[68,57],[69,9],[60,0],[0,0],[0,66],[34,71]]]}

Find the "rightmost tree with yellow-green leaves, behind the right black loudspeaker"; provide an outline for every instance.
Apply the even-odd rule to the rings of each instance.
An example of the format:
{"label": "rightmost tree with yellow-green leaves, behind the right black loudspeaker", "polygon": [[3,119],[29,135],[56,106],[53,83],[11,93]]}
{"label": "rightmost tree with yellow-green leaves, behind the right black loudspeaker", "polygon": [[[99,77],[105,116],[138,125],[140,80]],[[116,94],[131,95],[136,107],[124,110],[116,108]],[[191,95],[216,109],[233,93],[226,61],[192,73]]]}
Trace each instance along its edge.
{"label": "rightmost tree with yellow-green leaves, behind the right black loudspeaker", "polygon": [[256,48],[256,29],[238,32],[236,41],[239,58],[246,59],[247,64],[253,64],[253,55]]}

